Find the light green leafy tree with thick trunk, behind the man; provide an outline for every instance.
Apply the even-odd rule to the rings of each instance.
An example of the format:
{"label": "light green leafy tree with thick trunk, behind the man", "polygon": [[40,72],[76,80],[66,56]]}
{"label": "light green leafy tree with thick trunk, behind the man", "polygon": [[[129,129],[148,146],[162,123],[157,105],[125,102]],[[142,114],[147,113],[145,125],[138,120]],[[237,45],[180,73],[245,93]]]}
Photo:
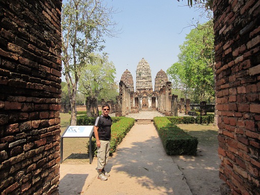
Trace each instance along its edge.
{"label": "light green leafy tree with thick trunk, behind the man", "polygon": [[86,95],[87,116],[99,115],[98,98],[104,96],[114,84],[116,69],[113,62],[108,61],[108,56],[91,54],[93,60],[82,71],[79,82],[79,91]]}

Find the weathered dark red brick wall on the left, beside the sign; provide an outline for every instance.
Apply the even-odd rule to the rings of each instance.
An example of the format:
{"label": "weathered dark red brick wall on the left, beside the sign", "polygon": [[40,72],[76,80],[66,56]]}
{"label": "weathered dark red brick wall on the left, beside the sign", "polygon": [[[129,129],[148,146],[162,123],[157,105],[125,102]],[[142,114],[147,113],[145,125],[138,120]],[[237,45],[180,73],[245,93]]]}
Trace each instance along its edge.
{"label": "weathered dark red brick wall on the left, beside the sign", "polygon": [[58,194],[61,0],[0,3],[0,192]]}

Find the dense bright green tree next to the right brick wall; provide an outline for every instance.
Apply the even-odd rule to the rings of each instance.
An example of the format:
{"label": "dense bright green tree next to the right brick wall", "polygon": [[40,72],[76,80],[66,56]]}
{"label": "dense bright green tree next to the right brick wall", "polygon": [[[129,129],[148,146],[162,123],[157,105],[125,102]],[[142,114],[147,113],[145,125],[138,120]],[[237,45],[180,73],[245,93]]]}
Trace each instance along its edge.
{"label": "dense bright green tree next to the right brick wall", "polygon": [[167,70],[173,87],[195,102],[214,99],[214,34],[210,20],[194,28],[180,46],[178,62]]}

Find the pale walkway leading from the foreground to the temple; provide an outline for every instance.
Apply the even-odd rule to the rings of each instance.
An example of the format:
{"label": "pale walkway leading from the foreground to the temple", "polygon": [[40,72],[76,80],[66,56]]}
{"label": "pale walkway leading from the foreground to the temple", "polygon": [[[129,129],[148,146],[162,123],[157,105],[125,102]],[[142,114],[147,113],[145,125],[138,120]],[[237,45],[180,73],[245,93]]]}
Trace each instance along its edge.
{"label": "pale walkway leading from the foreground to the temple", "polygon": [[[140,115],[131,114],[127,117],[150,120],[157,115],[160,114],[140,112]],[[96,164],[96,158],[91,165],[61,164],[59,193],[192,194],[183,174],[171,156],[166,154],[150,121],[136,122],[123,139],[107,165],[106,171],[111,174],[107,181],[96,178]]]}

